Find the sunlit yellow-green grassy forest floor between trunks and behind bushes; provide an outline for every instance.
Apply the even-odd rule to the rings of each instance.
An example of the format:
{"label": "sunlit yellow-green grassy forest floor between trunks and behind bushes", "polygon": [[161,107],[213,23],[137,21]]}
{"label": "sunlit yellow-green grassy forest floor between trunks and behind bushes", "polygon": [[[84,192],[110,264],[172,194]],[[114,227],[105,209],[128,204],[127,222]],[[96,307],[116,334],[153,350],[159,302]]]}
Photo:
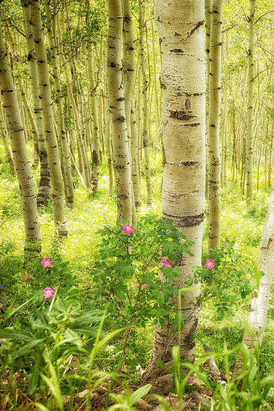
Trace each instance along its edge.
{"label": "sunlit yellow-green grassy forest floor between trunks and behind bushes", "polygon": [[[30,157],[32,158],[32,157]],[[153,156],[151,158],[153,163]],[[152,167],[152,182],[154,191],[153,214],[160,216],[160,182],[161,182],[161,158],[156,156],[155,166]],[[34,172],[36,185],[39,182],[39,171]],[[254,175],[254,181],[257,178]],[[24,265],[24,226],[21,215],[20,193],[16,179],[12,179],[5,161],[4,154],[0,154],[0,306],[6,310],[13,295],[17,293],[17,300],[24,302],[30,293],[30,286],[24,281],[23,274],[26,273]],[[262,176],[263,180],[263,176]],[[78,281],[81,291],[81,302],[85,307],[97,307],[104,309],[103,298],[93,291],[92,272],[98,260],[98,248],[100,237],[96,234],[102,226],[112,226],[116,220],[115,195],[113,198],[107,196],[107,162],[103,158],[100,169],[99,190],[94,197],[87,197],[77,178],[76,205],[74,209],[66,208],[66,219],[68,226],[68,238],[64,245],[59,247],[60,260],[67,261],[66,270],[71,272]],[[242,197],[239,185],[232,182],[228,172],[228,182],[222,190],[222,242],[235,241],[235,250],[242,254],[242,263],[253,267],[257,261],[260,236],[263,222],[267,211],[270,189],[261,187],[258,194],[254,195],[252,204],[247,207]],[[142,202],[145,203],[144,179],[142,184]],[[52,234],[53,221],[51,206],[40,208],[39,215],[42,229],[42,256],[52,256]],[[142,206],[139,214],[149,211]],[[204,223],[203,242],[203,265],[207,257],[207,218]],[[227,317],[221,318],[216,309],[214,301],[205,304],[200,310],[199,326],[197,334],[196,361],[204,354],[203,343],[209,344],[215,351],[223,352],[224,343],[228,348],[241,342],[244,318],[248,306],[249,296],[243,301],[240,310],[233,310]],[[265,332],[261,351],[261,375],[274,371],[274,292],[273,287],[269,301],[269,323]],[[117,319],[117,324],[119,318]],[[115,328],[111,317],[107,317],[104,327],[112,330]],[[134,357],[133,364],[145,367],[152,346],[153,327],[147,325],[146,330],[142,328],[135,335],[135,350],[130,353]],[[118,344],[117,344],[118,343]],[[112,364],[117,363],[121,355],[122,340],[112,342],[105,346],[99,356],[102,368],[111,369]],[[111,359],[111,361],[109,361]],[[229,358],[232,369],[235,357]],[[220,368],[224,368],[224,358],[221,356]],[[125,369],[131,373],[130,368]]]}

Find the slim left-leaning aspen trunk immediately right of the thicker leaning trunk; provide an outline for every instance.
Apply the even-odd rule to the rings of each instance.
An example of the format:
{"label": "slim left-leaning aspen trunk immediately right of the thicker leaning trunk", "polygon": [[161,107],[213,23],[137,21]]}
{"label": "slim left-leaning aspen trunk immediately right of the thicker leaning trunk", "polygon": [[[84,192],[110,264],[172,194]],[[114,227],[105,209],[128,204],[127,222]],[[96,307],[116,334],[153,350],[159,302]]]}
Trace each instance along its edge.
{"label": "slim left-leaning aspen trunk immediately right of the thicker leaning trunk", "polygon": [[[62,100],[62,87],[60,81],[60,73],[59,73],[59,66],[57,60],[57,39],[53,37],[52,31],[52,18],[49,9],[49,3],[45,4],[45,11],[46,11],[46,20],[47,20],[47,34],[48,34],[48,42],[50,46],[50,55],[51,55],[51,65],[52,65],[52,72],[53,72],[53,80],[55,85],[56,91],[56,105],[57,105],[57,115],[58,115],[58,133],[60,137],[60,145],[62,148],[63,154],[63,167],[64,167],[64,184],[65,184],[65,191],[66,191],[66,199],[67,205],[70,208],[74,207],[74,184],[72,181],[71,176],[71,167],[69,161],[69,152],[68,152],[68,145],[67,145],[67,134],[66,134],[66,127],[65,127],[65,115],[64,115],[64,108],[63,108],[63,100]],[[56,12],[56,8],[53,9],[53,12]],[[53,19],[54,22],[54,19]]]}

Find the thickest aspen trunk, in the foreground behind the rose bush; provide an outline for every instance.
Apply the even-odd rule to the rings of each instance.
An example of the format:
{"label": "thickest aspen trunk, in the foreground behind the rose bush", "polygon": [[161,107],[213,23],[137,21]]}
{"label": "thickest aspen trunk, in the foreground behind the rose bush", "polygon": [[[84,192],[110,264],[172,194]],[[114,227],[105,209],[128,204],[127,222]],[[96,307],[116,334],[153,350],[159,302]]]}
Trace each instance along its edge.
{"label": "thickest aspen trunk, in the foreground behind the rose bush", "polygon": [[[163,124],[162,217],[195,242],[193,256],[183,255],[174,266],[174,283],[186,287],[192,267],[201,264],[205,204],[205,57],[204,3],[200,0],[155,0],[154,17],[161,44]],[[199,285],[184,291],[181,313],[181,358],[194,361],[198,324]],[[194,303],[193,303],[194,302]],[[151,363],[170,360],[176,334],[155,327]],[[175,336],[175,338],[174,338]]]}

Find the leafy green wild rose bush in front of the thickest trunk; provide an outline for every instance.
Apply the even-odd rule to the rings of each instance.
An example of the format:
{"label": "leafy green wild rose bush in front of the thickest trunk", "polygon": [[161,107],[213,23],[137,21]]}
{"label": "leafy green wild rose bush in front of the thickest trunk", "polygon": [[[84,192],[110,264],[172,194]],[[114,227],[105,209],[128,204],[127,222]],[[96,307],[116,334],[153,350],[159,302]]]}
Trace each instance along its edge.
{"label": "leafy green wild rose bush in front of the thickest trunk", "polygon": [[[125,327],[125,346],[136,344],[136,333],[158,321],[177,326],[177,307],[171,298],[178,287],[168,281],[178,276],[176,261],[191,254],[193,244],[172,221],[147,215],[138,228],[125,222],[98,231],[101,236],[98,267],[93,272],[98,295],[104,295],[112,327]],[[161,281],[161,278],[163,281]],[[139,331],[140,332],[140,331]]]}

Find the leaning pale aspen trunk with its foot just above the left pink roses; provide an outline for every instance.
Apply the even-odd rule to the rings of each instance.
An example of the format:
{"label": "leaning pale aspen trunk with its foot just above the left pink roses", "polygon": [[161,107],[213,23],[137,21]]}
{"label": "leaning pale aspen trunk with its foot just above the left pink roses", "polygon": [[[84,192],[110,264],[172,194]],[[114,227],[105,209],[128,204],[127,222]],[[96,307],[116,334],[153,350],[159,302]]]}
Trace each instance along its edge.
{"label": "leaning pale aspen trunk with its foot just above the left pink roses", "polygon": [[31,0],[29,2],[29,6],[33,41],[35,44],[36,59],[38,63],[37,68],[40,86],[40,100],[51,178],[53,221],[56,228],[56,233],[58,233],[58,239],[62,241],[67,236],[64,183],[61,172],[57,139],[54,130],[54,117],[50,95],[45,40],[41,21],[40,1]]}

